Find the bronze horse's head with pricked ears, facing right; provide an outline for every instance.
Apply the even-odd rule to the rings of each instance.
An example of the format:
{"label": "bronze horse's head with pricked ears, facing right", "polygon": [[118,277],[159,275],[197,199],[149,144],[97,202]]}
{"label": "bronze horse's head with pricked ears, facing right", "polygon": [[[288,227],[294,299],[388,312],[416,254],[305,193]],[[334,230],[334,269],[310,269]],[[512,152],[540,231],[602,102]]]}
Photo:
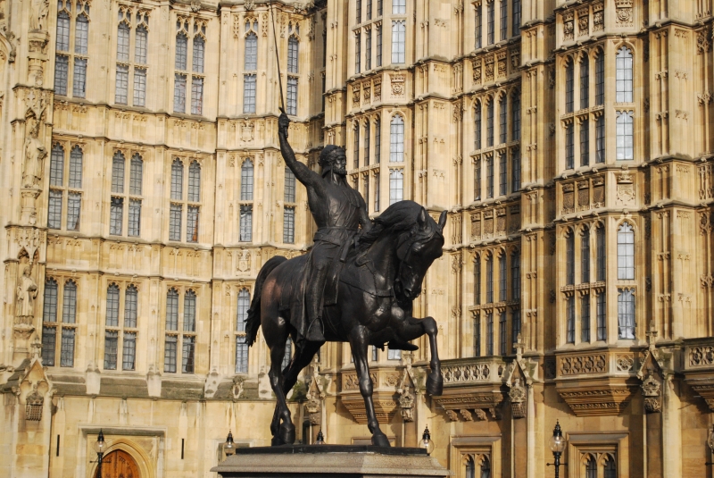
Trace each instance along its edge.
{"label": "bronze horse's head with pricked ears, facing right", "polygon": [[396,256],[399,268],[394,279],[394,292],[397,297],[414,300],[421,293],[421,283],[428,268],[442,256],[444,246],[444,224],[446,211],[436,223],[422,207],[417,222],[409,231],[399,235]]}

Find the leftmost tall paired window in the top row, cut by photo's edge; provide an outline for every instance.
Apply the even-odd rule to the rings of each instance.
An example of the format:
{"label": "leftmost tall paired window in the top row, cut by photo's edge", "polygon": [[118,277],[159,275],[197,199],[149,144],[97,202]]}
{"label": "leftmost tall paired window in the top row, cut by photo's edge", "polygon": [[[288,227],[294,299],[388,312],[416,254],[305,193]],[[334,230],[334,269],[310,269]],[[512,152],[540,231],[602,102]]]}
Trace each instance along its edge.
{"label": "leftmost tall paired window in the top row, cut by photo's edge", "polygon": [[[72,13],[72,8],[75,8],[74,13]],[[72,14],[75,16],[73,31],[71,27]],[[83,98],[87,94],[89,3],[80,0],[73,4],[70,0],[60,0],[57,6],[56,32],[54,94],[67,96],[69,85],[71,85],[72,96]],[[71,48],[71,43],[74,44],[74,48]]]}

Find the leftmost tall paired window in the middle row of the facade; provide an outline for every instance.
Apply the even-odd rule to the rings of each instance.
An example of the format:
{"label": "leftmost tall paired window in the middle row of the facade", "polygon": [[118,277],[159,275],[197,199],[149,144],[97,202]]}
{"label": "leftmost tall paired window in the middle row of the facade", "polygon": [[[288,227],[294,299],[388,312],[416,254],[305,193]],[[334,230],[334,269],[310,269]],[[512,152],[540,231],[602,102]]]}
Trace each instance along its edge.
{"label": "leftmost tall paired window in the middle row of the facade", "polygon": [[[82,166],[84,154],[75,145],[71,148],[70,164],[64,161],[64,148],[55,144],[50,155],[50,191],[47,208],[47,227],[62,229],[63,197],[67,197],[65,229],[79,231],[82,205]],[[67,172],[65,172],[67,169]],[[67,179],[67,180],[65,180]]]}

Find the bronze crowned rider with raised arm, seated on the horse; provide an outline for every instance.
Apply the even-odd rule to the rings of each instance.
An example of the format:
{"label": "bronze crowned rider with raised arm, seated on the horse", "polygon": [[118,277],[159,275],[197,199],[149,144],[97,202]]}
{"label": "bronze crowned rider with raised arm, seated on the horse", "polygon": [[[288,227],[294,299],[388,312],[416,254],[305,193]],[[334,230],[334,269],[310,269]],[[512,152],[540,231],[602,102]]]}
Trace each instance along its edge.
{"label": "bronze crowned rider with raised arm, seated on the horse", "polygon": [[345,150],[327,145],[320,152],[320,174],[312,172],[295,159],[293,148],[287,142],[289,125],[286,113],[282,113],[278,118],[280,152],[295,178],[307,189],[307,202],[318,226],[303,276],[303,307],[297,310],[302,316],[293,316],[291,323],[302,338],[321,342],[325,341],[321,315],[330,265],[343,256],[345,247],[350,247],[353,239],[359,237],[358,233],[371,229],[372,222],[361,194],[345,179]]}

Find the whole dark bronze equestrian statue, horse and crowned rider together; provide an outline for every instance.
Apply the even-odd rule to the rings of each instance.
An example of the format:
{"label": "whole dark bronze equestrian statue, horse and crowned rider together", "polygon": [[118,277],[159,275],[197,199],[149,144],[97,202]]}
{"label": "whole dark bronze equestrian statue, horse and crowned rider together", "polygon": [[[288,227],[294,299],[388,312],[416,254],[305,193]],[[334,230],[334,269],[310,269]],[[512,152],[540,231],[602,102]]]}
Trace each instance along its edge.
{"label": "whole dark bronze equestrian statue, horse and crowned rider together", "polygon": [[[270,386],[278,398],[270,423],[272,444],[295,442],[286,392],[322,344],[332,341],[350,342],[372,443],[388,447],[372,402],[368,348],[384,348],[388,343],[390,348],[415,350],[409,341],[427,334],[431,348],[427,391],[441,395],[444,380],[436,321],[413,317],[411,302],[421,292],[428,267],[442,255],[446,213],[436,223],[421,205],[400,201],[372,224],[360,193],[345,181],[342,148],[325,147],[320,154],[322,174],[311,172],[295,160],[287,143],[288,125],[283,113],[278,120],[281,151],[308,191],[319,230],[308,255],[289,261],[275,256],[262,266],[248,311],[247,343],[253,344],[262,326],[270,348]],[[295,342],[295,355],[281,370],[288,337]]]}

